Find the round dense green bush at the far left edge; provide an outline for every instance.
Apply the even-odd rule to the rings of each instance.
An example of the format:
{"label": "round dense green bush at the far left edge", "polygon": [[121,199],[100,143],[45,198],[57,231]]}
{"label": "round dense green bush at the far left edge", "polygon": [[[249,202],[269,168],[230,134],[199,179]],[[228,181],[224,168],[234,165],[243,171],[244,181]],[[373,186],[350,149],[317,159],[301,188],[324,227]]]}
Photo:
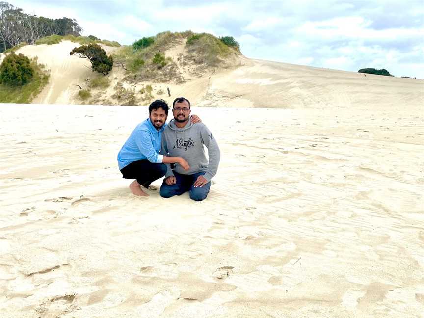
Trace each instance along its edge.
{"label": "round dense green bush at the far left edge", "polygon": [[34,75],[29,58],[14,52],[7,55],[0,65],[0,83],[13,86],[26,84]]}

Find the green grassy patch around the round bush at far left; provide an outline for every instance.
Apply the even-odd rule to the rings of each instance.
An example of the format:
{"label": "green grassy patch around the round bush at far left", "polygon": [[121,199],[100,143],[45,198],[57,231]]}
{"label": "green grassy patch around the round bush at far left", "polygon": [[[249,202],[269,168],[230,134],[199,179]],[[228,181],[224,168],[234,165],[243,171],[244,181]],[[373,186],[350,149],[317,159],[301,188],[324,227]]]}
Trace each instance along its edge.
{"label": "green grassy patch around the round bush at far left", "polygon": [[49,71],[31,59],[32,78],[22,86],[0,84],[0,103],[30,103],[49,82]]}

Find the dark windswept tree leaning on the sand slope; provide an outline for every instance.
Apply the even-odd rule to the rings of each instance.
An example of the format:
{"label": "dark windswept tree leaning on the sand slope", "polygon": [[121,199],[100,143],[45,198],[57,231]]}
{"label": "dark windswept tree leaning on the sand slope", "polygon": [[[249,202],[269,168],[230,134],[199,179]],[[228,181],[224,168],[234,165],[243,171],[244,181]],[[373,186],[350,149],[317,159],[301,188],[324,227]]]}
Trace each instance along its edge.
{"label": "dark windswept tree leaning on the sand slope", "polygon": [[105,50],[98,44],[81,45],[78,48],[74,48],[70,54],[76,54],[81,58],[88,58],[91,62],[93,72],[96,71],[106,75],[112,70],[113,57],[111,55],[107,56]]}

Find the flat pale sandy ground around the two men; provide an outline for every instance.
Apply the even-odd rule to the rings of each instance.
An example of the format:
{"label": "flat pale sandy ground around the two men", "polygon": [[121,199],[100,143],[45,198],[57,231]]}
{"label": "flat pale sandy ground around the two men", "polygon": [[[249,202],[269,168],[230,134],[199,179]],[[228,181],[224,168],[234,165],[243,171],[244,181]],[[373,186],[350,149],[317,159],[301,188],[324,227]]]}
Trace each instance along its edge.
{"label": "flat pale sandy ground around the two men", "polygon": [[203,202],[130,193],[146,107],[1,105],[1,317],[422,317],[417,105],[194,105],[222,158]]}

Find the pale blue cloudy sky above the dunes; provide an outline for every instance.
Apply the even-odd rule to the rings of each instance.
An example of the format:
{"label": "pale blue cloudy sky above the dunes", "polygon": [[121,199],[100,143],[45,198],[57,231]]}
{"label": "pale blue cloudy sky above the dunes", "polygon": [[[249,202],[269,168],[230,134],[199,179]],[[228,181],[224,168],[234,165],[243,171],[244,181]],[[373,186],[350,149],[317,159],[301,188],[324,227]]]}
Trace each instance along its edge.
{"label": "pale blue cloudy sky above the dunes", "polygon": [[346,71],[385,68],[424,78],[423,0],[15,0],[50,18],[75,18],[102,39],[132,44],[162,31],[233,36],[250,58]]}

